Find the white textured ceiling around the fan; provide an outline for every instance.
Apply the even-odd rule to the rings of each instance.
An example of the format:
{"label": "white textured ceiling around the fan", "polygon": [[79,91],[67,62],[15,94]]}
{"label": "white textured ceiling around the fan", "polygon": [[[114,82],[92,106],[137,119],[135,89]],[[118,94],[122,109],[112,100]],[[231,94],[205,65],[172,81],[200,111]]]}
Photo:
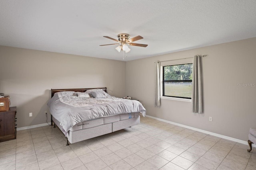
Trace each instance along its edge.
{"label": "white textured ceiling around the fan", "polygon": [[0,45],[125,61],[256,37],[256,0],[1,0]]}

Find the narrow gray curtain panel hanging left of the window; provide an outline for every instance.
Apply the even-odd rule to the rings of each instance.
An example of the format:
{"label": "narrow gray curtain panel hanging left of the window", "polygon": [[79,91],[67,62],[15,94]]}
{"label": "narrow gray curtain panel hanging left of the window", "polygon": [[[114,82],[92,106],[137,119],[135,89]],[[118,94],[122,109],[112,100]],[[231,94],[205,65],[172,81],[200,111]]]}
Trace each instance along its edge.
{"label": "narrow gray curtain panel hanging left of the window", "polygon": [[155,106],[161,106],[160,102],[160,61],[156,61],[155,66]]}

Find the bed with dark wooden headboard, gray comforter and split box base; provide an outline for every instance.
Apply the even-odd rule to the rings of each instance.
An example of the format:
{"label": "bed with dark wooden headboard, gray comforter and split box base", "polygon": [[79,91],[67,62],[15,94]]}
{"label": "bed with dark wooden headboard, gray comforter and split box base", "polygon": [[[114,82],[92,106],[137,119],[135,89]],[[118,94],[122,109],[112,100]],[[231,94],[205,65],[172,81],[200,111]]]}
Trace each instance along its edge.
{"label": "bed with dark wooden headboard, gray comforter and split box base", "polygon": [[51,123],[67,145],[140,124],[146,109],[137,100],[115,98],[107,88],[52,89]]}

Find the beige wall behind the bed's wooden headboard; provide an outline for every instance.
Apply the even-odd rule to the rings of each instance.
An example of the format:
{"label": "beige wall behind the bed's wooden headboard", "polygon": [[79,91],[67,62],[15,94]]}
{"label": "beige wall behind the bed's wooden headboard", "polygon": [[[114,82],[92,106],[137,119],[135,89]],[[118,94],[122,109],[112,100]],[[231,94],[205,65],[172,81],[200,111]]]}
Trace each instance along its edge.
{"label": "beige wall behind the bed's wooden headboard", "polygon": [[107,87],[110,95],[123,97],[125,66],[124,61],[0,46],[0,92],[17,106],[18,127],[37,125],[46,123],[51,88]]}

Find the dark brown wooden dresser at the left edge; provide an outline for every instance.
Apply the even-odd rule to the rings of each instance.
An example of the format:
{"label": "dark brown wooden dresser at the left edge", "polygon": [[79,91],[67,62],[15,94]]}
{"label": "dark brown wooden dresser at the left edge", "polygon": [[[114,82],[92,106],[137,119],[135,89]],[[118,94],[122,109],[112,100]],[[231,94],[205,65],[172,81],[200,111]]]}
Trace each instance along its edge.
{"label": "dark brown wooden dresser at the left edge", "polygon": [[0,111],[0,142],[16,139],[16,107]]}

